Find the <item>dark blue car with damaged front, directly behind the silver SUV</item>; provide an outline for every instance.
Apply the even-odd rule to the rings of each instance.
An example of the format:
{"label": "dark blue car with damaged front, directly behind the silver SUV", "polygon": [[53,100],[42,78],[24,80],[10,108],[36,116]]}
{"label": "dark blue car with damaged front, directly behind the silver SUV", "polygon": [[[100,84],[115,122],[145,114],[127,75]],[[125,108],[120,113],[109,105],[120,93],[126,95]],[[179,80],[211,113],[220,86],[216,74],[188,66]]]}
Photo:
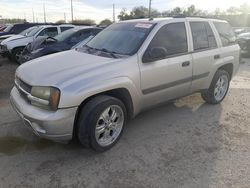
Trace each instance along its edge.
{"label": "dark blue car with damaged front, directly behind the silver SUV", "polygon": [[101,30],[98,27],[76,27],[55,37],[34,40],[24,48],[20,61],[24,63],[44,55],[69,50],[89,36],[95,36]]}

